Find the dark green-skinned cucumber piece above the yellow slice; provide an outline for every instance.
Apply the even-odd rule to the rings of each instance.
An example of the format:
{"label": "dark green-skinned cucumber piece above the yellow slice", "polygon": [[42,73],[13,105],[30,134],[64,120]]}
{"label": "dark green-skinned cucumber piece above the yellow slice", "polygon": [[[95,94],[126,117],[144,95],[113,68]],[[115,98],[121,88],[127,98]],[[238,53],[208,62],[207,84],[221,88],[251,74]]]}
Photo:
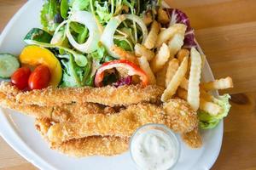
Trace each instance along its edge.
{"label": "dark green-skinned cucumber piece above the yellow slice", "polygon": [[37,42],[49,43],[51,38],[52,36],[47,31],[40,28],[32,28],[32,30],[26,34],[24,40],[35,40]]}

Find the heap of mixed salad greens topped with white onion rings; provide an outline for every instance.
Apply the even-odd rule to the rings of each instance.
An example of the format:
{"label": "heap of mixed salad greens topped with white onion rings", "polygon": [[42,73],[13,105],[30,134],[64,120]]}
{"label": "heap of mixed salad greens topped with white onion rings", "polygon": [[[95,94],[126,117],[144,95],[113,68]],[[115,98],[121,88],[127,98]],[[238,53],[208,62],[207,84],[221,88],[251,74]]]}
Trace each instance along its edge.
{"label": "heap of mixed salad greens topped with white onion rings", "polygon": [[33,29],[25,41],[54,51],[63,70],[61,87],[93,86],[97,68],[119,58],[111,46],[133,51],[148,34],[143,14],[153,15],[159,5],[142,0],[49,0],[40,16],[44,30]]}

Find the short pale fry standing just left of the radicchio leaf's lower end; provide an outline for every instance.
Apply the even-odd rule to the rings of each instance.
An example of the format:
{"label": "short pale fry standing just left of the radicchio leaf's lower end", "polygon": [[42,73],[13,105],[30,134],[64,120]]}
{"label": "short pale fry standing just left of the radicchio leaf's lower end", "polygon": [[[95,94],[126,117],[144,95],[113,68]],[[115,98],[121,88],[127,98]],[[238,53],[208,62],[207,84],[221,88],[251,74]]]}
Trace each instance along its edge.
{"label": "short pale fry standing just left of the radicchio leaf's lower end", "polygon": [[177,52],[183,47],[184,37],[185,37],[185,32],[177,33],[168,42],[171,59],[174,58],[174,56],[177,54]]}

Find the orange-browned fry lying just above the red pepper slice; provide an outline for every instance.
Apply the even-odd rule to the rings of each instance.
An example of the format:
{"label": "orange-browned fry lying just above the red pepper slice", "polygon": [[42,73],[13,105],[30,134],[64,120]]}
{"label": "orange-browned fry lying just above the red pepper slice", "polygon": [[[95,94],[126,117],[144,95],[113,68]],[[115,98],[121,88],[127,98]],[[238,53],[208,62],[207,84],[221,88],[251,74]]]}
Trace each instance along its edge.
{"label": "orange-browned fry lying just above the red pepper slice", "polygon": [[137,57],[134,54],[131,54],[131,52],[125,51],[123,48],[119,48],[118,46],[114,45],[111,50],[114,54],[117,54],[120,56],[120,59],[127,59],[131,61],[132,63],[137,64]]}

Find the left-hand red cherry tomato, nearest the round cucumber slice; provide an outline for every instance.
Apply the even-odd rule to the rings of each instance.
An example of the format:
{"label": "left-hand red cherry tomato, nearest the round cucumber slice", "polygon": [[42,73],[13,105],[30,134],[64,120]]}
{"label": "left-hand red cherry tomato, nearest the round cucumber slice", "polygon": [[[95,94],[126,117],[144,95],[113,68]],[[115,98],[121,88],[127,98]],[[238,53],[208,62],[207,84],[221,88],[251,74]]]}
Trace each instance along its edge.
{"label": "left-hand red cherry tomato, nearest the round cucumber slice", "polygon": [[21,67],[11,77],[11,82],[20,90],[24,90],[28,87],[27,81],[31,74],[28,67]]}

